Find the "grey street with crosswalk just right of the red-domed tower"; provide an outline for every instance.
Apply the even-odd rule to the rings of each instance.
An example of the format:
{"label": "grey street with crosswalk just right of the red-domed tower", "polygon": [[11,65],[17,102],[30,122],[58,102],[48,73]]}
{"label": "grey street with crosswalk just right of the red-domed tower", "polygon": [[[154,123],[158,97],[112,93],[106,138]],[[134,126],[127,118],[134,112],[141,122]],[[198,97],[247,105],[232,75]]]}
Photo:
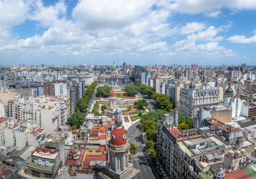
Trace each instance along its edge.
{"label": "grey street with crosswalk just right of the red-domed tower", "polygon": [[[138,121],[127,130],[128,142],[133,143],[138,147],[136,155],[132,156],[132,160],[130,160],[134,165],[134,168],[140,170],[140,173],[138,173],[134,178],[159,178],[150,159],[148,158],[148,155],[146,154],[147,149],[145,148],[143,141],[143,133],[140,131],[140,125],[141,123]],[[133,136],[131,137],[131,135]]]}

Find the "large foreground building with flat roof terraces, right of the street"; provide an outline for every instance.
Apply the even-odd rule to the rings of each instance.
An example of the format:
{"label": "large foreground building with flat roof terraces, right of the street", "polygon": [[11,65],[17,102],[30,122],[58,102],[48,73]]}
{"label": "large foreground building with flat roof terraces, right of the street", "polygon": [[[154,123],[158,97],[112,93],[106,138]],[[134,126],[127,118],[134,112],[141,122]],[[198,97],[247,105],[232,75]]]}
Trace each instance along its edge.
{"label": "large foreground building with flat roof terraces, right of the street", "polygon": [[157,123],[157,150],[164,171],[171,178],[201,178],[210,164],[220,163],[232,146],[214,134],[202,135],[196,128],[181,130]]}

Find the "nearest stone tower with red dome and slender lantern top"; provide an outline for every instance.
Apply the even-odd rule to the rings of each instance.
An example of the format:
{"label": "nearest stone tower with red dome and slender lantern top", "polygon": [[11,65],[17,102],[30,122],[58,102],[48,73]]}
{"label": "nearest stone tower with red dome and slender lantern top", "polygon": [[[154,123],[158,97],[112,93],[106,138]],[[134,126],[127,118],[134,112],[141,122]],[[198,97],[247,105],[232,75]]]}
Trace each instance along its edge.
{"label": "nearest stone tower with red dome and slender lantern top", "polygon": [[133,178],[139,171],[134,169],[129,162],[130,144],[127,143],[127,136],[122,127],[121,110],[119,107],[115,111],[115,124],[111,132],[111,139],[108,143],[108,166],[99,173],[103,178]]}

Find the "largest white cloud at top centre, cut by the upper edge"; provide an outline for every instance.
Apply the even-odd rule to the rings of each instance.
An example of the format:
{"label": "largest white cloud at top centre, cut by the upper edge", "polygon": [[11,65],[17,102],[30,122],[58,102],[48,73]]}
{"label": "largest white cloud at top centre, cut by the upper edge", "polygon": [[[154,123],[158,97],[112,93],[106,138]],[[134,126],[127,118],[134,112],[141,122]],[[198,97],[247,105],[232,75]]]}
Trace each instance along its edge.
{"label": "largest white cloud at top centre, cut by the upper edge", "polygon": [[125,27],[144,13],[150,12],[154,0],[81,0],[74,8],[72,17],[86,29]]}

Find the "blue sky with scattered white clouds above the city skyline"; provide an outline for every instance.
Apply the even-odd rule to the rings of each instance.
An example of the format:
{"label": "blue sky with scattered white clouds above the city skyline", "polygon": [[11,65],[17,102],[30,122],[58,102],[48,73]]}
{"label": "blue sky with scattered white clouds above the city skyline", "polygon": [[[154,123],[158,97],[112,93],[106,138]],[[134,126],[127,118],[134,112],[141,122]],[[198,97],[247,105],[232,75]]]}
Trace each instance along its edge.
{"label": "blue sky with scattered white clouds above the city skyline", "polygon": [[255,0],[0,0],[0,65],[256,65]]}

